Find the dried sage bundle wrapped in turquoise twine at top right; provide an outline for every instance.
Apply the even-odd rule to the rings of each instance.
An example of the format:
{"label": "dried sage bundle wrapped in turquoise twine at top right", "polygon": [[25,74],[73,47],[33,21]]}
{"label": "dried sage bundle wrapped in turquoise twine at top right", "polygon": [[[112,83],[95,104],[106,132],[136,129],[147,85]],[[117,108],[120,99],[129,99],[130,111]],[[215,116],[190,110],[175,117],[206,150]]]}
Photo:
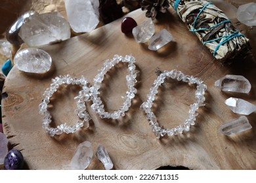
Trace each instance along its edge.
{"label": "dried sage bundle wrapped in turquoise twine at top right", "polygon": [[[142,0],[144,5],[149,0]],[[154,0],[152,0],[154,1]],[[163,5],[168,2],[176,11],[188,29],[196,34],[216,59],[226,61],[235,58],[250,48],[249,39],[238,31],[222,10],[210,1],[200,0],[156,0],[152,6]],[[143,5],[143,3],[141,3]],[[146,7],[146,6],[144,6]],[[167,6],[165,6],[167,7]],[[145,8],[144,8],[145,9]],[[143,6],[142,6],[143,10]],[[152,14],[153,15],[153,14]],[[150,14],[147,14],[150,17]],[[156,15],[154,14],[154,17]],[[152,16],[152,18],[154,18]]]}

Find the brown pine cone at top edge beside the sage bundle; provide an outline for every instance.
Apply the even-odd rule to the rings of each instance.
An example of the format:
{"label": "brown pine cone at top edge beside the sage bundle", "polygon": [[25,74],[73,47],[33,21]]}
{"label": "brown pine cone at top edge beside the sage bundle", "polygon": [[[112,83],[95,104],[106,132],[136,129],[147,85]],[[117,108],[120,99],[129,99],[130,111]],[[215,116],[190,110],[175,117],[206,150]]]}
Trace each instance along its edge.
{"label": "brown pine cone at top edge beside the sage bundle", "polygon": [[142,0],[140,7],[142,10],[147,10],[146,17],[154,20],[158,12],[166,12],[170,6],[169,3],[169,0]]}

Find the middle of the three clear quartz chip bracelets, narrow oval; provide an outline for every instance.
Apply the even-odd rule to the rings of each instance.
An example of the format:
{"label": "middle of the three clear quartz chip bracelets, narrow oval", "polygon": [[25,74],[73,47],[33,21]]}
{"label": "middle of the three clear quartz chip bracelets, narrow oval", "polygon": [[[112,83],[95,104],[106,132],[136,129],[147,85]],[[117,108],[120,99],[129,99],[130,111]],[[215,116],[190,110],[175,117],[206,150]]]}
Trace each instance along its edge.
{"label": "middle of the three clear quartz chip bracelets, narrow oval", "polygon": [[[102,103],[100,97],[98,97],[98,94],[100,94],[98,90],[100,89],[102,80],[104,80],[104,75],[120,61],[123,63],[128,63],[128,75],[126,76],[128,90],[126,95],[123,97],[123,105],[121,105],[121,107],[114,112],[106,112],[104,110],[104,104]],[[90,88],[91,101],[93,102],[91,108],[100,116],[100,118],[112,118],[115,120],[120,116],[125,116],[125,112],[129,110],[129,107],[131,107],[131,99],[133,99],[137,93],[137,89],[134,86],[137,82],[136,77],[139,71],[135,69],[135,58],[133,56],[123,57],[115,55],[114,58],[105,61],[104,66],[99,70],[99,73],[93,79],[94,85]]]}

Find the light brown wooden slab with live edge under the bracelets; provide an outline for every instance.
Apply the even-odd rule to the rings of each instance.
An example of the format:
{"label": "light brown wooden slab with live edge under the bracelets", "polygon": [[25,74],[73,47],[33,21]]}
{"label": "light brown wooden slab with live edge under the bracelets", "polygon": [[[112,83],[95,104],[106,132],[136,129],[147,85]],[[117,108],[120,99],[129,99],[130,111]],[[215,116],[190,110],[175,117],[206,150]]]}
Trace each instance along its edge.
{"label": "light brown wooden slab with live edge under the bracelets", "polygon": [[[145,12],[136,10],[128,16],[138,23],[145,20]],[[189,169],[256,169],[255,112],[248,117],[253,128],[244,133],[225,137],[218,133],[223,122],[238,118],[226,105],[228,97],[241,97],[255,103],[255,61],[244,59],[232,65],[218,63],[196,36],[170,9],[155,22],[156,32],[165,28],[173,34],[174,41],[158,52],[148,50],[146,44],[137,44],[132,35],[120,31],[121,19],[100,27],[91,33],[68,41],[46,46],[43,50],[53,58],[53,68],[46,75],[28,75],[14,67],[7,76],[2,101],[3,125],[9,141],[22,150],[29,169],[69,169],[70,160],[80,142],[91,141],[93,150],[102,144],[108,150],[114,169],[158,169],[162,166],[184,166]],[[89,107],[89,129],[74,135],[54,138],[41,127],[42,116],[38,105],[42,94],[57,75],[86,76],[91,82],[106,59],[114,54],[133,54],[137,59],[138,93],[127,116],[119,120],[101,120]],[[155,71],[177,69],[185,75],[200,77],[207,84],[206,106],[199,110],[196,125],[189,133],[156,139],[144,114],[139,110],[150,86],[156,79]],[[119,65],[105,77],[100,91],[109,111],[122,104],[126,92],[127,65]],[[247,94],[224,93],[215,88],[215,80],[226,74],[244,75],[252,85]],[[78,88],[66,88],[56,93],[51,114],[55,124],[74,123],[73,97]],[[160,89],[154,112],[160,125],[175,127],[188,118],[189,105],[194,103],[194,86],[168,80]],[[104,169],[93,157],[88,169]]]}

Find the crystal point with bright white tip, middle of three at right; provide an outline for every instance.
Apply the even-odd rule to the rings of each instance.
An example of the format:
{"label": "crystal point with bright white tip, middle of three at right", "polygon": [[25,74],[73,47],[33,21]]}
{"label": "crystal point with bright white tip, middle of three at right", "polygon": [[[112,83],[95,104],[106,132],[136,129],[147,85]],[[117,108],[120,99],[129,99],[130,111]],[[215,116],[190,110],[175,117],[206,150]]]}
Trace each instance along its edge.
{"label": "crystal point with bright white tip, middle of three at right", "polygon": [[230,97],[226,99],[225,104],[237,114],[249,115],[256,110],[256,106],[243,99]]}

